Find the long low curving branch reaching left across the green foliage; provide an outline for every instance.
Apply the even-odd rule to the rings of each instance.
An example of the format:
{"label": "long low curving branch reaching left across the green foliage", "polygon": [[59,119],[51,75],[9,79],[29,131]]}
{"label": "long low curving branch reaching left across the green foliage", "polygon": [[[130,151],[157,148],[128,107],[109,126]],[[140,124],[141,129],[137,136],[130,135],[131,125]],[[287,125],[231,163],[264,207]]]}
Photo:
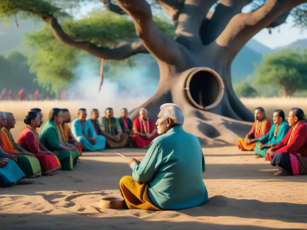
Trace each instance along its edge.
{"label": "long low curving branch reaching left across the green foliage", "polygon": [[63,31],[56,18],[43,14],[42,19],[51,25],[53,34],[58,40],[72,47],[82,49],[99,58],[122,60],[138,53],[148,53],[140,42],[133,42],[131,44],[121,43],[115,48],[106,48],[97,46],[88,41],[76,40],[76,38],[69,36]]}

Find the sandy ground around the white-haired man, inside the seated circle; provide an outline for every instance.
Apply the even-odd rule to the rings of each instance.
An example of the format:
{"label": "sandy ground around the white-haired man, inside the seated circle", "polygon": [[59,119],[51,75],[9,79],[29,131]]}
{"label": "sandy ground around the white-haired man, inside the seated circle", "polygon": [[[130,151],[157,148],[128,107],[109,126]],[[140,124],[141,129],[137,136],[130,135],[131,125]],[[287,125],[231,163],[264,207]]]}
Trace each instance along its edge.
{"label": "sandy ground around the white-haired man, inside the seated circle", "polygon": [[[84,153],[74,171],[0,190],[0,229],[307,229],[306,177],[273,177],[264,159],[236,147],[204,148],[208,204],[181,211],[99,209],[130,175],[116,150]],[[122,149],[142,159],[145,150]],[[183,185],[184,186],[184,185]]]}

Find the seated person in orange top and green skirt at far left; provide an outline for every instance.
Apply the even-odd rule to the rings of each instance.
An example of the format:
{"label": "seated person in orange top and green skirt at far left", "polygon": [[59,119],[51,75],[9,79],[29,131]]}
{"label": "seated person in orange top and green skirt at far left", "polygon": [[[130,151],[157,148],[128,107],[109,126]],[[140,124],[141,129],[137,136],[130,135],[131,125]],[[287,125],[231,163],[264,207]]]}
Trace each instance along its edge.
{"label": "seated person in orange top and green skirt at far left", "polygon": [[[16,155],[17,165],[26,177],[41,176],[41,166],[33,153],[25,151],[14,140],[10,130],[15,127],[13,113],[5,113],[6,125],[1,130],[1,147],[3,151]],[[1,114],[0,114],[1,116]],[[0,127],[2,125],[0,124]]]}

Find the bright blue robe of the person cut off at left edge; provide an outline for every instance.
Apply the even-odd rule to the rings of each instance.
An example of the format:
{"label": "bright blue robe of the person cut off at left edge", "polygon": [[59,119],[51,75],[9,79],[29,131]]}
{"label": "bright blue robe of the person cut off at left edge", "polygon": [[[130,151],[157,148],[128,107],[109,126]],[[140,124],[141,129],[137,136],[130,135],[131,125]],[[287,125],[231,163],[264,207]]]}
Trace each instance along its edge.
{"label": "bright blue robe of the person cut off at left edge", "polygon": [[[6,153],[2,152],[0,149],[0,159],[1,158],[6,158]],[[24,177],[25,174],[13,160],[9,159],[9,163],[7,163],[5,167],[0,168],[0,186],[15,183]]]}

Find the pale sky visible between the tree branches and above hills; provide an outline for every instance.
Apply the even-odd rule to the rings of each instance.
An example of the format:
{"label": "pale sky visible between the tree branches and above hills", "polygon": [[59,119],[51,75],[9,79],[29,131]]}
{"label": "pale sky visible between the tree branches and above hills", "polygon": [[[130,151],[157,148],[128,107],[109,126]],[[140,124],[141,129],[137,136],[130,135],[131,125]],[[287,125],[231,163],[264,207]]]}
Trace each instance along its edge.
{"label": "pale sky visible between the tree branches and above hills", "polygon": [[[290,0],[289,0],[290,1]],[[86,15],[88,12],[91,12],[94,8],[102,7],[102,4],[87,4],[81,8],[81,15]],[[246,6],[243,9],[243,12],[249,11],[251,7]],[[269,34],[268,29],[262,29],[257,33],[253,39],[258,42],[266,45],[267,47],[274,49],[280,46],[285,46],[291,44],[297,40],[306,39],[307,30],[302,30],[300,28],[293,27],[293,19],[288,17],[286,23],[280,25],[277,28],[272,29],[272,33]]]}

